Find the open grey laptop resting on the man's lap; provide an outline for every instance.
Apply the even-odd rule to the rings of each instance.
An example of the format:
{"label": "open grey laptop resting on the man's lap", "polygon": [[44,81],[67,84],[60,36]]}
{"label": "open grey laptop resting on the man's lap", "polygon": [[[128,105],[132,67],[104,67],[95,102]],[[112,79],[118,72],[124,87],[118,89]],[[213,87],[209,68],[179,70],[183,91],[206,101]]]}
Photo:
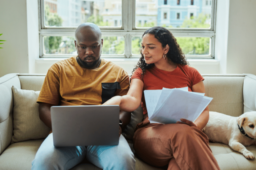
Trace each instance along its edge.
{"label": "open grey laptop resting on the man's lap", "polygon": [[55,147],[118,145],[119,105],[52,106]]}

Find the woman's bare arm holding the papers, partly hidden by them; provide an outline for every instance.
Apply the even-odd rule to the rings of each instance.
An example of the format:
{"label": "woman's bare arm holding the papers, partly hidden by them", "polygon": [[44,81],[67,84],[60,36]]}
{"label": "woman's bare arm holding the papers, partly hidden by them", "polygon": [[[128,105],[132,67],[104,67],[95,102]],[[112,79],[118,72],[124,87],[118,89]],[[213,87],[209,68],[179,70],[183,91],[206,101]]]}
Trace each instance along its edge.
{"label": "woman's bare arm holding the papers, partly hidden by them", "polygon": [[[203,80],[201,80],[199,83],[196,83],[192,86],[192,91],[199,92],[199,93],[205,93],[204,83]],[[204,128],[204,126],[209,121],[209,108],[208,106],[204,109],[204,111],[201,113],[201,115],[195,120],[195,124],[197,127],[201,130]]]}

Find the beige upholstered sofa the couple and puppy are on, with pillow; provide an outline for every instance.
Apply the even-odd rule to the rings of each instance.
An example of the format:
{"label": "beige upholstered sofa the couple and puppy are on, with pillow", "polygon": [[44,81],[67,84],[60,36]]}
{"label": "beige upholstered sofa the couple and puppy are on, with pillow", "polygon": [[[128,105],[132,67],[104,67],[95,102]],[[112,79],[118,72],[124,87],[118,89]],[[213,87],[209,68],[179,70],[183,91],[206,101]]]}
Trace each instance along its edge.
{"label": "beige upholstered sofa the couple and puppy are on, with pillow", "polygon": [[[0,170],[28,170],[31,162],[50,129],[38,116],[36,99],[45,74],[7,74],[0,78]],[[253,74],[203,74],[206,96],[213,97],[210,111],[239,116],[256,111],[256,76]],[[141,122],[141,107],[132,112],[124,137],[132,148],[132,136]],[[248,160],[242,154],[222,143],[210,143],[213,155],[221,170],[255,170],[256,160]],[[256,147],[246,147],[256,156]],[[133,149],[132,149],[133,150]],[[134,152],[134,150],[133,150]],[[135,153],[136,156],[136,153]],[[193,156],[193,155],[191,155]],[[157,170],[136,159],[136,170]],[[100,170],[87,160],[72,170]]]}

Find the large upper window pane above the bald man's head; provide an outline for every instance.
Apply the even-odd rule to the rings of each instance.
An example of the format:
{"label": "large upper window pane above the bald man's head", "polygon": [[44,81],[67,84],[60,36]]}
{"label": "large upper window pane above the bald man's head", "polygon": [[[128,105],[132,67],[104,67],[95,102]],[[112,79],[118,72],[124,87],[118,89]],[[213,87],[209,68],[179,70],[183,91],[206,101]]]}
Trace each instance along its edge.
{"label": "large upper window pane above the bald man's head", "polygon": [[85,22],[122,25],[122,0],[44,0],[44,12],[46,27],[77,27]]}

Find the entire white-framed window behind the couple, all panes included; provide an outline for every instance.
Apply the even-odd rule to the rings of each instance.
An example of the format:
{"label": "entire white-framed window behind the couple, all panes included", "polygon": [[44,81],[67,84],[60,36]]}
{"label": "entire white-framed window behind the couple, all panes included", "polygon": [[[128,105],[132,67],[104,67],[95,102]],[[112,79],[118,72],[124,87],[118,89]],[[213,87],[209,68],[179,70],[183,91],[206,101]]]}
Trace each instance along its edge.
{"label": "entire white-framed window behind the couple, all panes included", "polygon": [[84,22],[101,28],[105,58],[140,57],[141,36],[153,26],[168,28],[187,58],[214,57],[216,0],[209,1],[211,8],[203,12],[204,4],[194,5],[193,0],[182,3],[177,0],[177,8],[165,6],[167,0],[164,4],[162,0],[38,0],[38,3],[40,57],[76,55],[74,31]]}

